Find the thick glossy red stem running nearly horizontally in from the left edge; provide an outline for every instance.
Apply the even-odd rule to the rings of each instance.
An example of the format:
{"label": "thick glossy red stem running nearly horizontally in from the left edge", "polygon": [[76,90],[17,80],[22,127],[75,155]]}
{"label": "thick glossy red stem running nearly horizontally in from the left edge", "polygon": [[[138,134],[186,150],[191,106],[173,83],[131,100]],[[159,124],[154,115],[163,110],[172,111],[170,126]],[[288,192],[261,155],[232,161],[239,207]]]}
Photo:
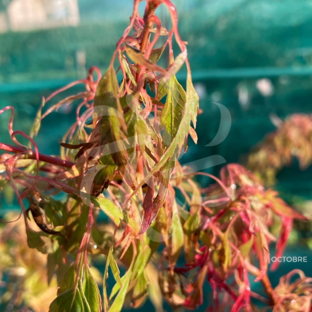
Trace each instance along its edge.
{"label": "thick glossy red stem running nearly horizontally in from the left edge", "polygon": [[[5,150],[7,152],[15,153],[15,154],[24,153],[27,156],[27,158],[36,159],[36,153],[32,149],[25,150],[23,147],[13,146],[13,145],[4,144],[4,143],[0,143],[0,149]],[[39,153],[39,160],[42,162],[46,162],[49,164],[66,167],[66,168],[72,168],[72,166],[74,165],[74,163],[70,161],[59,159],[53,156],[48,156],[48,155],[41,154],[41,153]]]}

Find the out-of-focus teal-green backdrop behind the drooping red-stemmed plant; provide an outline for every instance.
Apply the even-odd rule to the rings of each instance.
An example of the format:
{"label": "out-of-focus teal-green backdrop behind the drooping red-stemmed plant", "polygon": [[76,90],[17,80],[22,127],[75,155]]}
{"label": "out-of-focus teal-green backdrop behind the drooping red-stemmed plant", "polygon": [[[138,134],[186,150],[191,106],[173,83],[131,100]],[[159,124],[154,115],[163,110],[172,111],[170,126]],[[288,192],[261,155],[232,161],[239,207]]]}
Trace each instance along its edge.
{"label": "out-of-focus teal-green backdrop behind the drooping red-stemmed plant", "polygon": [[[172,2],[180,36],[189,44],[193,82],[203,111],[196,128],[198,144],[189,141],[181,163],[221,155],[227,163],[246,164],[253,146],[274,131],[271,120],[312,113],[312,0]],[[144,2],[140,7],[143,11]],[[102,72],[107,69],[131,11],[130,0],[0,0],[0,108],[14,106],[15,130],[29,133],[42,96],[85,77],[91,66]],[[169,17],[162,10],[157,13],[169,28]],[[182,84],[185,77],[181,70]],[[220,125],[214,102],[231,113],[220,131],[229,122],[231,130],[221,144],[207,147]],[[9,114],[0,116],[0,142],[10,144],[8,118]],[[49,115],[36,139],[39,150],[58,154],[58,140],[74,119],[71,106]],[[218,175],[220,166],[206,167]],[[294,161],[278,173],[274,188],[299,210],[311,210],[311,174],[311,167],[300,170]],[[201,179],[203,186],[209,183]],[[0,215],[19,209],[13,194],[2,197]],[[312,248],[311,225],[296,226],[290,243],[300,241]],[[309,250],[305,253],[310,255]],[[309,275],[308,265],[303,270]],[[275,274],[288,271],[285,264]]]}

